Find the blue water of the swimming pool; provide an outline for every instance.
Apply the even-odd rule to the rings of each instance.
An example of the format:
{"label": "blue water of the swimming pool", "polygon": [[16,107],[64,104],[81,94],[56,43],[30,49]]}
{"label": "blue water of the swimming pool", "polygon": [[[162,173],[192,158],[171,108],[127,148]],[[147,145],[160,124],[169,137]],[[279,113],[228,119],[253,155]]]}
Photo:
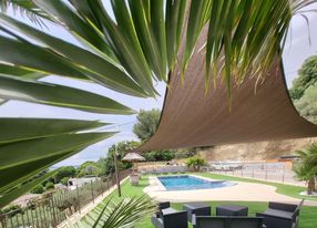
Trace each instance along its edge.
{"label": "blue water of the swimming pool", "polygon": [[222,188],[236,185],[227,180],[206,180],[194,176],[167,176],[157,177],[166,190],[193,190],[193,189],[208,189]]}

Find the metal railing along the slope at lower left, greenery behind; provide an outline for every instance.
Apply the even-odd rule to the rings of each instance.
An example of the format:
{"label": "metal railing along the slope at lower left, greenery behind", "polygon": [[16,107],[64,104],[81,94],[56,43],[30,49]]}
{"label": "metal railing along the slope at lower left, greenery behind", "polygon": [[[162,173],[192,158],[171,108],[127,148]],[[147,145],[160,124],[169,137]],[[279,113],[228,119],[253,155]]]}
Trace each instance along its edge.
{"label": "metal railing along the slope at lower left, greenery behind", "polygon": [[[120,172],[120,180],[131,172]],[[114,175],[101,177],[94,182],[76,187],[74,190],[62,189],[42,195],[41,199],[28,200],[23,207],[6,214],[0,213],[0,228],[50,228],[57,227],[74,213],[94,201],[115,185]]]}

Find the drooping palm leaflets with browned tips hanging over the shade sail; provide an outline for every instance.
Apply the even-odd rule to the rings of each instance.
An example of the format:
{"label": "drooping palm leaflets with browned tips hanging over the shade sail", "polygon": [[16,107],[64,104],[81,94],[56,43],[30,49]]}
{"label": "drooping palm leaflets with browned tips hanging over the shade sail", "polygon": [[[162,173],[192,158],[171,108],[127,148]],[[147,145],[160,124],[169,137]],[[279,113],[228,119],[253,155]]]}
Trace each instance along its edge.
{"label": "drooping palm leaflets with browned tips hanging over the shade sail", "polygon": [[[209,69],[223,75],[231,94],[232,81],[265,75],[280,58],[293,15],[316,1],[219,0],[192,1],[183,71],[203,27],[208,22],[206,86]],[[208,20],[204,20],[206,18]],[[207,89],[207,87],[206,87]]]}

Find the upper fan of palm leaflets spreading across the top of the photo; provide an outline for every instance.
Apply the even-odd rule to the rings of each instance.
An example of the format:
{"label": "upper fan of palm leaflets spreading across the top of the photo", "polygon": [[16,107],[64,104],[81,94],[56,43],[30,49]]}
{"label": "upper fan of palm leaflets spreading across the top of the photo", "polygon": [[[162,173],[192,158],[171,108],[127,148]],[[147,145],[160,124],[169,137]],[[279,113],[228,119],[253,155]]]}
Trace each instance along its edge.
{"label": "upper fan of palm leaflets spreading across the top of the photo", "polygon": [[[29,50],[23,52],[30,53],[34,49],[35,56],[43,54],[44,62],[51,60],[52,63],[44,64],[35,56],[29,62],[22,61],[21,53],[13,53],[14,60],[12,56],[2,58],[3,61],[10,59],[12,64],[37,71],[86,77],[131,95],[153,96],[153,80],[166,81],[167,72],[174,66],[183,31],[186,30],[182,63],[184,72],[198,35],[208,23],[206,86],[212,65],[213,76],[224,76],[229,94],[233,81],[242,83],[249,74],[259,77],[269,70],[276,58],[280,58],[290,18],[314,0],[196,0],[191,1],[188,7],[185,0],[112,1],[114,19],[109,15],[101,0],[71,0],[69,4],[60,0],[32,2],[49,18],[54,18],[57,24],[67,28],[84,49],[2,17],[6,27],[22,31],[58,53],[49,56],[48,50],[27,44],[23,38],[3,28],[20,43],[29,45]],[[184,24],[186,8],[190,11]],[[21,46],[19,42],[6,42],[14,46],[10,51]],[[10,56],[10,52],[6,55]],[[85,63],[85,56],[91,56],[91,64]],[[38,62],[41,64],[35,64]],[[57,70],[59,63],[61,69]],[[110,69],[112,73],[108,74],[105,71]],[[120,79],[114,76],[114,72]]]}

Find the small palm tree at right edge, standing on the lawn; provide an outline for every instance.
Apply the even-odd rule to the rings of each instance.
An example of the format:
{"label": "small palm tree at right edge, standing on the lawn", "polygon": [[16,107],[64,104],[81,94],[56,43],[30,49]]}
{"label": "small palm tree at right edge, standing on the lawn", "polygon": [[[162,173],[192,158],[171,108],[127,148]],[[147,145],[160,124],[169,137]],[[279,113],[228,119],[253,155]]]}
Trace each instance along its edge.
{"label": "small palm tree at right edge, standing on the lawn", "polygon": [[307,194],[310,195],[315,188],[317,176],[317,143],[311,144],[307,149],[297,151],[299,160],[295,164],[294,170],[298,179],[307,182]]}

